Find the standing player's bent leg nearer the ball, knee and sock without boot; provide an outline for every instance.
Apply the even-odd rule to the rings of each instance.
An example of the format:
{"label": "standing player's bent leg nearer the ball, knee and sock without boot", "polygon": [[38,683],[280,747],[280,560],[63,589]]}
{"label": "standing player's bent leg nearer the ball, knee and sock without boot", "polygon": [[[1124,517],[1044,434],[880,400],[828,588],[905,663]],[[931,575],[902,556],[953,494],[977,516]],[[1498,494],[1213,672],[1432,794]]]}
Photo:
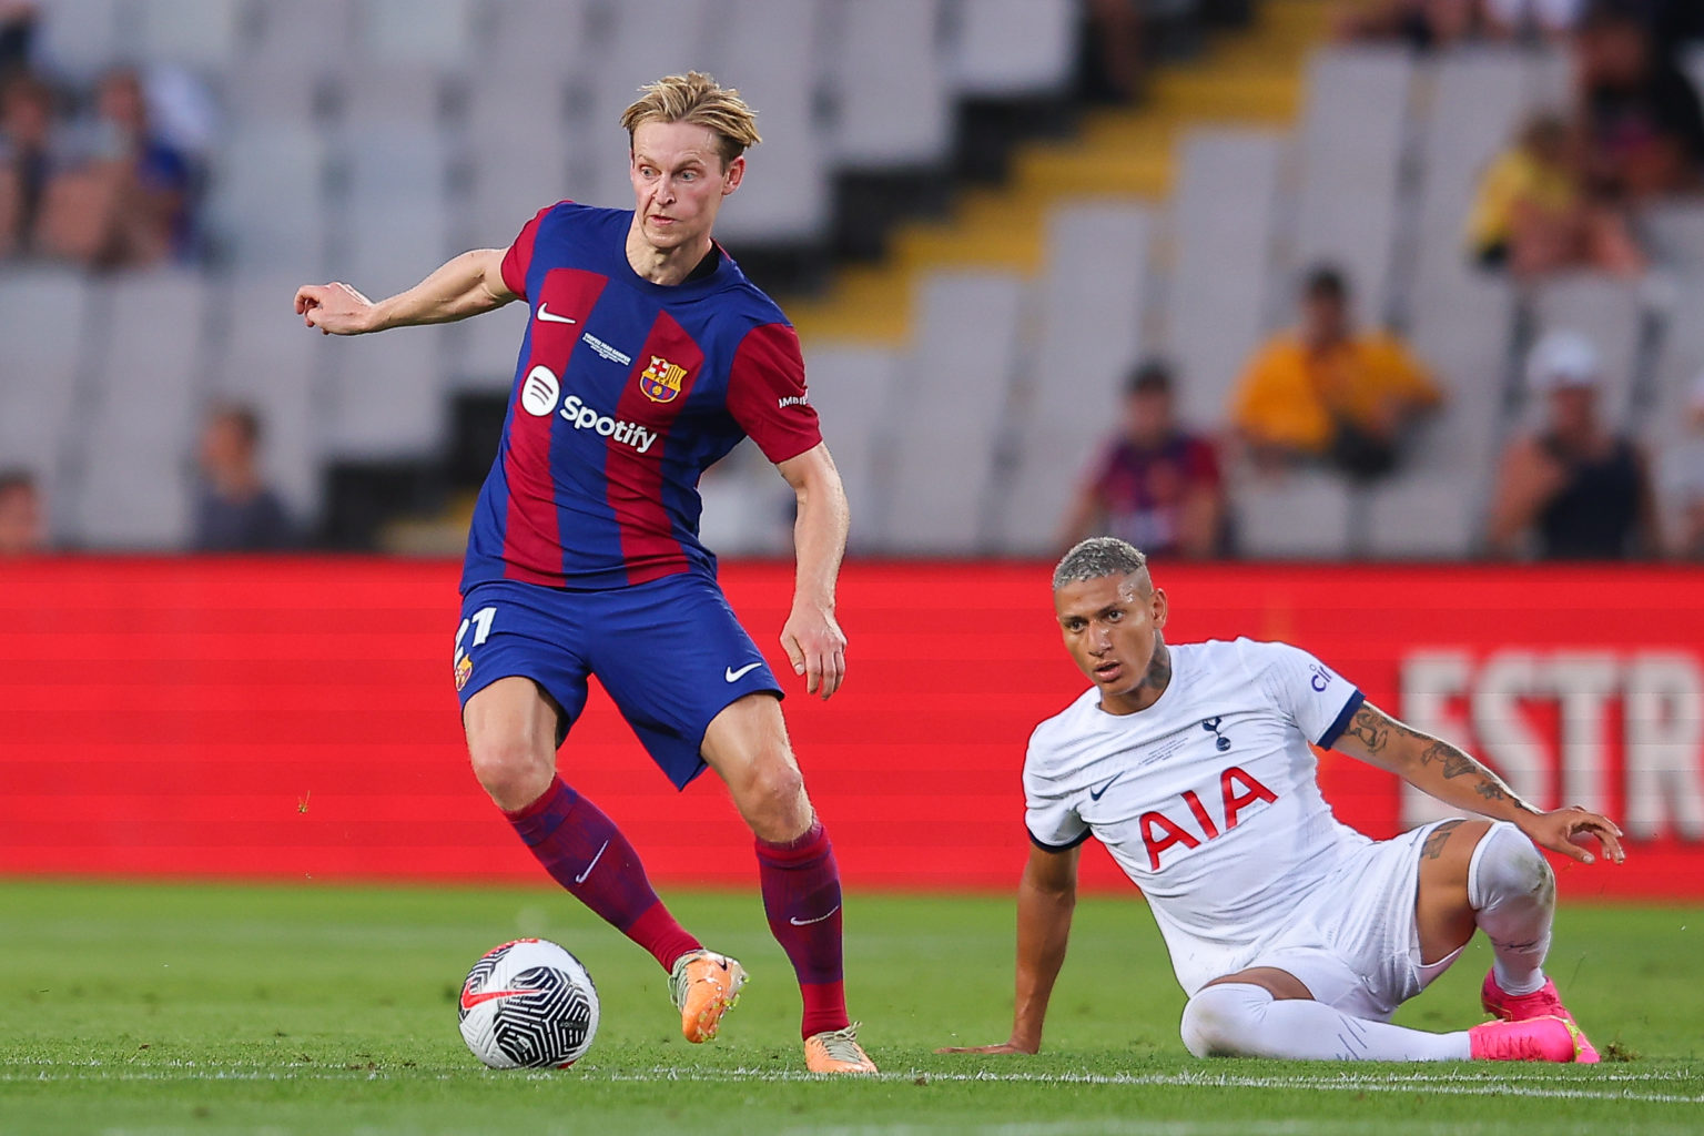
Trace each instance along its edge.
{"label": "standing player's bent leg nearer the ball, knee and sock without boot", "polygon": [[556,882],[671,969],[700,944],[663,906],[627,836],[557,777],[566,714],[530,678],[482,686],[462,710],[474,775]]}

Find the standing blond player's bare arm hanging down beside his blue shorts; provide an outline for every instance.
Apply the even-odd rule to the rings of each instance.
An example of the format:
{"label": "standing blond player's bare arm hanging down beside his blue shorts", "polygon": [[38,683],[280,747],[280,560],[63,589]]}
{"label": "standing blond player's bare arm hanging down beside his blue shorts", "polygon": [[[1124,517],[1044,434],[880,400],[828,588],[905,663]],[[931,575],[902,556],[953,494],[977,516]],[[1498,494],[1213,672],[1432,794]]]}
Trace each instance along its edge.
{"label": "standing blond player's bare arm hanging down beside his blue shorts", "polygon": [[792,611],[780,628],[780,645],[792,659],[792,673],[804,674],[804,690],[828,698],[847,674],[847,637],[835,620],[835,582],[847,552],[847,494],[840,470],[818,443],[775,468],[792,485],[799,514],[792,525],[794,555],[799,562],[792,589]]}

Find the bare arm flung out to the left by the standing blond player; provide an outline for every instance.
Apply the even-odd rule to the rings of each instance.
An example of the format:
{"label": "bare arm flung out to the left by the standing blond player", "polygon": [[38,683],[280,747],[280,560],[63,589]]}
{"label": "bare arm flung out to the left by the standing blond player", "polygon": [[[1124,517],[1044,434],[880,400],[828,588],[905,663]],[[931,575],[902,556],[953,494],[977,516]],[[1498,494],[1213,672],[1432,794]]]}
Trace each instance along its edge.
{"label": "bare arm flung out to the left by the standing blond player", "polygon": [[296,315],[327,336],[365,336],[392,327],[448,324],[501,308],[515,298],[503,283],[503,249],[475,249],[389,300],[373,303],[344,283],[296,288]]}

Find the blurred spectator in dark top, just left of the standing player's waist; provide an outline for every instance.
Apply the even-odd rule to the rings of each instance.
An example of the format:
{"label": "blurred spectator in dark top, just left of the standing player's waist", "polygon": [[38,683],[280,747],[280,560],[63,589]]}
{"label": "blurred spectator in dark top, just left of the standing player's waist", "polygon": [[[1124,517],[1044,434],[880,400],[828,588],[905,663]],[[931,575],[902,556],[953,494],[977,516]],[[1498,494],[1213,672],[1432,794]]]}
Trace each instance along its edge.
{"label": "blurred spectator in dark top, just left of the standing player's waist", "polygon": [[261,419],[242,405],[216,405],[201,427],[201,487],[194,545],[199,552],[290,548],[295,530],[259,470]]}

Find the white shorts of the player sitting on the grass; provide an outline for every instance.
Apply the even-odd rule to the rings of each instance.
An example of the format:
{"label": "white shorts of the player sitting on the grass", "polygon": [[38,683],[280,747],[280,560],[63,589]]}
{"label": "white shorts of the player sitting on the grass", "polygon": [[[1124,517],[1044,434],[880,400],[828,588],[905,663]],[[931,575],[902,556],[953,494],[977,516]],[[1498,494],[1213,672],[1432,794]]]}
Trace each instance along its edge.
{"label": "white shorts of the player sitting on the grass", "polygon": [[1355,850],[1247,966],[1287,971],[1314,1001],[1351,1017],[1389,1020],[1455,961],[1425,964],[1414,923],[1419,848],[1438,824]]}

